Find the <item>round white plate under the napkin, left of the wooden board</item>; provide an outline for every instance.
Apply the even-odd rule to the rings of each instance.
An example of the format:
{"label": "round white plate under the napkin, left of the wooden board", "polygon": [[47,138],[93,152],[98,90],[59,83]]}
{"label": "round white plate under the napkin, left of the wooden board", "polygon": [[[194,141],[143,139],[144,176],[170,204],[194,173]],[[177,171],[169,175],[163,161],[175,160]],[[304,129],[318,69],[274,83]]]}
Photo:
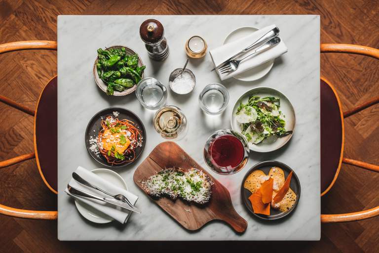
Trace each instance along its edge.
{"label": "round white plate under the napkin, left of the wooden board", "polygon": [[[110,181],[115,186],[118,186],[125,190],[128,189],[128,186],[126,185],[125,180],[119,174],[117,174],[111,169],[93,169],[91,171],[95,173],[96,175],[104,178],[105,180]],[[79,211],[80,214],[89,221],[104,224],[104,223],[109,223],[114,220],[114,218],[100,211],[97,211],[93,207],[88,206],[87,204],[81,201],[75,200],[75,205],[76,205],[77,211]]]}

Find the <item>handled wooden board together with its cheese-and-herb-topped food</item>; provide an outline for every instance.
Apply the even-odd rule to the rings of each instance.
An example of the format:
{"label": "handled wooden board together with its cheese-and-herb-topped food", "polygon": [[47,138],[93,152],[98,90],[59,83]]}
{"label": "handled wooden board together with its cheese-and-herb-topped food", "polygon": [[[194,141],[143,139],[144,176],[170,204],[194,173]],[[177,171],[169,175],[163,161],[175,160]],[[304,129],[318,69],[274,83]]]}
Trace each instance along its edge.
{"label": "handled wooden board together with its cheese-and-herb-topped food", "polygon": [[[185,179],[156,193],[156,188],[161,188],[166,181],[178,180],[175,176],[171,179],[166,170],[174,170],[172,173]],[[159,173],[160,178],[156,177]],[[194,179],[197,177],[199,179]],[[156,146],[136,169],[133,180],[160,208],[189,230],[200,229],[211,220],[224,220],[237,232],[246,230],[247,222],[234,210],[227,188],[174,142]],[[197,182],[201,182],[198,187]]]}

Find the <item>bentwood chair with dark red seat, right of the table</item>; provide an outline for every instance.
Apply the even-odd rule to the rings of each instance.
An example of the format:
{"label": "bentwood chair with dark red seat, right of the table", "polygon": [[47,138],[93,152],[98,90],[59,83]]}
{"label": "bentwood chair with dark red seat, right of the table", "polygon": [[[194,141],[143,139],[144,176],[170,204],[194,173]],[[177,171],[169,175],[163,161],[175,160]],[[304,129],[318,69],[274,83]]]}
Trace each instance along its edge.
{"label": "bentwood chair with dark red seat, right of the table", "polygon": [[[379,59],[379,49],[351,44],[321,44],[322,53],[353,53]],[[341,170],[341,164],[350,164],[363,169],[379,172],[379,166],[343,157],[343,119],[379,103],[379,96],[355,108],[342,112],[340,98],[333,85],[321,77],[321,196],[334,185]],[[376,208],[342,214],[321,214],[321,222],[345,222],[371,218],[379,215]]]}

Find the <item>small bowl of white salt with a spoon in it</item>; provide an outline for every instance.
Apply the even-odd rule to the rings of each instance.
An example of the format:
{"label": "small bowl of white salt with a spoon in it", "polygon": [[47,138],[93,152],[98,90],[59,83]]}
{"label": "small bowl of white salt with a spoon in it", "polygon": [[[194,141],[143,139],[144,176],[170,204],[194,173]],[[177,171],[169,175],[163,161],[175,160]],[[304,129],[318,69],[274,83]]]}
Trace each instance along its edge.
{"label": "small bowl of white salt with a spoon in it", "polygon": [[175,69],[170,74],[168,83],[172,91],[177,94],[188,94],[193,90],[196,84],[195,75],[189,69],[184,69],[182,75],[180,72],[182,68]]}

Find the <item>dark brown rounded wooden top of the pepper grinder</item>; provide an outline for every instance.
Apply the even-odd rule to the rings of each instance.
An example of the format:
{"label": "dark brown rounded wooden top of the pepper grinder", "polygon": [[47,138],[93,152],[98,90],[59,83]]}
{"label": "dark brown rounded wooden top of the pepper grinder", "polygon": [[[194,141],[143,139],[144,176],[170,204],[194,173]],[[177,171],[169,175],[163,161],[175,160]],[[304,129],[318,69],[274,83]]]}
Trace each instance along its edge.
{"label": "dark brown rounded wooden top of the pepper grinder", "polygon": [[163,25],[156,19],[147,19],[140,26],[141,39],[146,43],[157,43],[163,35]]}

